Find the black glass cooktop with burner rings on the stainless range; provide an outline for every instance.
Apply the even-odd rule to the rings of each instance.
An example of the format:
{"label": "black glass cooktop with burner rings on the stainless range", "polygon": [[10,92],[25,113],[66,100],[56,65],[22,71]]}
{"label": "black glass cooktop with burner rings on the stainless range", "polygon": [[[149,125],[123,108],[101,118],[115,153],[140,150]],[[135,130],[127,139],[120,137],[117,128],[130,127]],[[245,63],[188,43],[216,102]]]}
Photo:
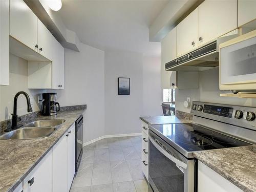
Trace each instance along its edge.
{"label": "black glass cooktop with burner rings on the stainless range", "polygon": [[[193,123],[151,125],[154,133],[172,140],[187,152],[214,150],[236,146],[248,146],[250,143],[208,130]],[[156,132],[157,131],[157,132]],[[159,135],[161,137],[161,135]]]}

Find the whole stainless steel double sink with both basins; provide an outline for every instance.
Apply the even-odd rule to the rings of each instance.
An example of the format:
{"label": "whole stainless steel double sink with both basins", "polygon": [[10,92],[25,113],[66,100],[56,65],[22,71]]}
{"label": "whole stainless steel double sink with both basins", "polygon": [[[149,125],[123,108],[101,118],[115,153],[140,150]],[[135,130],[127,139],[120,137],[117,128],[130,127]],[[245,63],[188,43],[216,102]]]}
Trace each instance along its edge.
{"label": "whole stainless steel double sink with both basins", "polygon": [[56,130],[56,126],[65,119],[38,120],[26,124],[24,127],[7,132],[0,136],[0,140],[9,139],[38,139],[47,138]]}

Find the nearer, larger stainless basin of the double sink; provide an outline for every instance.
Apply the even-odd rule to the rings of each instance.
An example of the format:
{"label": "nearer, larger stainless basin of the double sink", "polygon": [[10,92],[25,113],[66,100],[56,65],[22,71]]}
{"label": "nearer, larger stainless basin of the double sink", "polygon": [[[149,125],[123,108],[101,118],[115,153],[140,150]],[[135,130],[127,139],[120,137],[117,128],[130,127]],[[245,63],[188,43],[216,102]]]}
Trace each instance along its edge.
{"label": "nearer, larger stainless basin of the double sink", "polygon": [[0,140],[45,138],[49,137],[55,130],[55,127],[23,127],[1,135]]}

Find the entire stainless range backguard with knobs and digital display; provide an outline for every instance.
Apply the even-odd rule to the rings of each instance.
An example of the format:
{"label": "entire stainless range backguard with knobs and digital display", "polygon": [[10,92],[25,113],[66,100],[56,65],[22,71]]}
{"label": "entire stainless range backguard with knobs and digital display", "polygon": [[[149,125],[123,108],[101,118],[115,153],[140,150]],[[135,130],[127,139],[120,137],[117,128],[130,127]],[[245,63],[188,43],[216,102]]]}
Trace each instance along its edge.
{"label": "entire stainless range backguard with knobs and digital display", "polygon": [[256,108],[193,101],[191,114],[256,131]]}

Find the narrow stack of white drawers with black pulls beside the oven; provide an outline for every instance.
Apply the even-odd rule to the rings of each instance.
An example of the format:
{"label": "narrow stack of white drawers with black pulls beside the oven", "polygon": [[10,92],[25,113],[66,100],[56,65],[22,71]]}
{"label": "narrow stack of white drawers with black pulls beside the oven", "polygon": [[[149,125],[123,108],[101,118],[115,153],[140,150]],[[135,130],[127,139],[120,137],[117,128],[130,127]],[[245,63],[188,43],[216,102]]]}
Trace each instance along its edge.
{"label": "narrow stack of white drawers with black pulls beside the oven", "polygon": [[142,130],[142,136],[141,136],[141,166],[142,166],[142,172],[145,176],[145,178],[148,181],[148,124],[146,124],[144,121],[141,121],[141,130]]}

